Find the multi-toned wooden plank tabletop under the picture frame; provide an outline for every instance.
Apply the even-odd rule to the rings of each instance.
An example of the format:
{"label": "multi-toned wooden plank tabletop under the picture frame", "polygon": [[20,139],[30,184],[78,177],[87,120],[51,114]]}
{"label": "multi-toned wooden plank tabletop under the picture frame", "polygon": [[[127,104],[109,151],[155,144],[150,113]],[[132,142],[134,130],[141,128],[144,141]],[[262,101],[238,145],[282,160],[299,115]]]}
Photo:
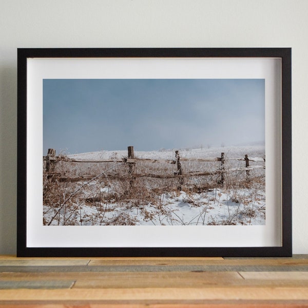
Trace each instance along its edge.
{"label": "multi-toned wooden plank tabletop under the picture frame", "polygon": [[0,256],[0,307],[308,307],[308,255]]}

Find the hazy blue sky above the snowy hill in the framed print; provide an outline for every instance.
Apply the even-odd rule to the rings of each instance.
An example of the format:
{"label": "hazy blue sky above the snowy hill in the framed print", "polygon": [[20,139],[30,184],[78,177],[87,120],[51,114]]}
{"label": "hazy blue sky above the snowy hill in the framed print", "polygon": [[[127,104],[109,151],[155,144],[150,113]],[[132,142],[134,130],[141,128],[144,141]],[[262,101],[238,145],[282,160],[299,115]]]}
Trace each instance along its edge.
{"label": "hazy blue sky above the snowy hill in the framed print", "polygon": [[46,79],[44,153],[264,142],[263,79]]}

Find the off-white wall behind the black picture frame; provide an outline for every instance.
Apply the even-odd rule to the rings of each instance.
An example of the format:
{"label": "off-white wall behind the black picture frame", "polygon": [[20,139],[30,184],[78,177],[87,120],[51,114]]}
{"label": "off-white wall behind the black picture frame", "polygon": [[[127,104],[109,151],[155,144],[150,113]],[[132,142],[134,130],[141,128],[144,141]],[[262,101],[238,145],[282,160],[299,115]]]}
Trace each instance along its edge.
{"label": "off-white wall behind the black picture frame", "polygon": [[308,1],[0,0],[0,254],[16,251],[17,47],[292,47],[293,249],[308,254]]}

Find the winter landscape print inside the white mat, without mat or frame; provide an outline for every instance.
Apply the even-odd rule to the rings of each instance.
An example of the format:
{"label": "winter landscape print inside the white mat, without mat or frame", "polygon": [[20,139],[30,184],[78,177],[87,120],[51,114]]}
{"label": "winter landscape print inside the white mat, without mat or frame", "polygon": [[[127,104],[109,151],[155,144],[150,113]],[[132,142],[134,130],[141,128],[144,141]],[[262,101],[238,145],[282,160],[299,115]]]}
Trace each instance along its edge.
{"label": "winter landscape print inside the white mat, without mat or frame", "polygon": [[265,225],[264,79],[43,80],[43,225]]}

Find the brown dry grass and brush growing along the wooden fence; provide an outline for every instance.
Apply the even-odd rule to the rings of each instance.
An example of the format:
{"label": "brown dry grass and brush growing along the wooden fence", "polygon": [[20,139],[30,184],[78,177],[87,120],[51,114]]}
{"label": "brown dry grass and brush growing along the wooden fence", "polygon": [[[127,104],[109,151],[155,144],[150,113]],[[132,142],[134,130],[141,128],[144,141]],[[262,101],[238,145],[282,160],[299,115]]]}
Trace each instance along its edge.
{"label": "brown dry grass and brush growing along the wooden fence", "polygon": [[[221,183],[221,174],[185,177],[181,190],[186,192],[187,202],[201,208],[203,205],[194,200],[194,195],[217,188],[228,191],[233,196],[233,202],[242,206],[247,202],[245,201],[247,198],[244,200],[243,196],[238,194],[241,189],[248,188],[251,191],[252,201],[257,200],[258,191],[265,191],[265,170],[252,170],[248,177],[246,171],[228,171],[237,166],[242,167],[243,162],[226,161],[224,183]],[[215,162],[182,162],[183,174],[197,170],[215,172],[219,168],[220,163]],[[162,163],[138,163],[134,165],[133,169],[135,174],[173,175],[177,172],[176,165]],[[82,225],[85,221],[90,220],[93,225],[134,225],[138,224],[136,217],[127,215],[124,210],[136,208],[142,211],[144,219],[151,220],[152,214],[146,213],[144,209],[144,205],[149,203],[155,206],[158,211],[161,211],[162,215],[170,216],[170,213],[166,213],[166,207],[163,206],[162,196],[166,192],[170,194],[179,193],[179,178],[134,178],[130,172],[130,167],[125,163],[58,162],[53,175],[44,174],[43,224]],[[95,178],[76,182],[61,181],[63,177],[79,178],[82,176]],[[121,179],[115,179],[116,176],[121,177]],[[191,196],[190,200],[189,196]],[[84,217],[81,214],[81,208],[85,205],[93,210],[94,214],[91,217]],[[122,208],[123,211],[115,211],[115,206]],[[207,209],[203,208],[202,214],[204,209],[206,213]],[[236,219],[240,215],[253,218],[256,215],[255,211],[256,209],[253,206],[241,209],[241,211],[238,210]],[[108,212],[114,213],[112,218],[107,219],[106,213]],[[232,225],[236,219],[229,216],[224,221],[217,221],[213,218],[206,224]]]}

